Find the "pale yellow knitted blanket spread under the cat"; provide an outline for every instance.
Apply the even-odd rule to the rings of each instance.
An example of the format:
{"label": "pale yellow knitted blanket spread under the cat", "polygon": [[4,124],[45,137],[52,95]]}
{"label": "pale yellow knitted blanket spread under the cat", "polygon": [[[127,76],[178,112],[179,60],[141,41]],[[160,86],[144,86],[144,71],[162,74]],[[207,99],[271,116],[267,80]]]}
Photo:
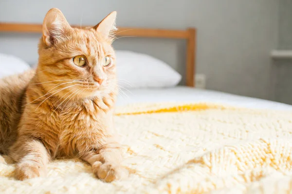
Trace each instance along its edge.
{"label": "pale yellow knitted blanket spread under the cat", "polygon": [[1,194],[282,194],[292,192],[292,112],[212,104],[119,107],[126,180],[105,183],[79,159],[18,181],[0,164]]}

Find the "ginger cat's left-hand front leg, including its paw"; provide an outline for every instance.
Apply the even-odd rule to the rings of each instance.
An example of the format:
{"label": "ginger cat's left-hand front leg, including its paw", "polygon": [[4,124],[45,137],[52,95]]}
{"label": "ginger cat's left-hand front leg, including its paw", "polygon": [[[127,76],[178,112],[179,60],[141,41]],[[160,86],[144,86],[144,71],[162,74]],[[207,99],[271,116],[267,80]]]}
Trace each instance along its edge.
{"label": "ginger cat's left-hand front leg, including its paw", "polygon": [[17,179],[46,176],[49,154],[41,141],[18,141],[11,147],[10,156],[17,161],[15,171]]}

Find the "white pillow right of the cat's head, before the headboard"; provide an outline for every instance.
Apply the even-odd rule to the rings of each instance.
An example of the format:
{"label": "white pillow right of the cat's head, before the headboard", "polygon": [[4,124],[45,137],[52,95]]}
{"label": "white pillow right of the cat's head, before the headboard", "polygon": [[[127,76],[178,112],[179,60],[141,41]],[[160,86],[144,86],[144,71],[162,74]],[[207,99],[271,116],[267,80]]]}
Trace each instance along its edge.
{"label": "white pillow right of the cat's head, before the headboard", "polygon": [[118,84],[123,88],[174,87],[182,79],[169,65],[147,54],[117,50],[116,61]]}

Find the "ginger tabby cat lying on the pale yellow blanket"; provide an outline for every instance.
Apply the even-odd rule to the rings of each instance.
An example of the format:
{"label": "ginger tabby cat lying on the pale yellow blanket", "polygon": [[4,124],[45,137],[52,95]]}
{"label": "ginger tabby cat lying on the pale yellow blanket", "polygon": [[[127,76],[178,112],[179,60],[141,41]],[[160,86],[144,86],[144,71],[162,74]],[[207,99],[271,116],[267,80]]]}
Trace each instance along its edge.
{"label": "ginger tabby cat lying on the pale yellow blanket", "polygon": [[49,10],[36,71],[0,80],[0,153],[17,162],[16,178],[45,176],[47,163],[61,157],[89,162],[106,182],[128,176],[113,126],[115,18],[72,28]]}

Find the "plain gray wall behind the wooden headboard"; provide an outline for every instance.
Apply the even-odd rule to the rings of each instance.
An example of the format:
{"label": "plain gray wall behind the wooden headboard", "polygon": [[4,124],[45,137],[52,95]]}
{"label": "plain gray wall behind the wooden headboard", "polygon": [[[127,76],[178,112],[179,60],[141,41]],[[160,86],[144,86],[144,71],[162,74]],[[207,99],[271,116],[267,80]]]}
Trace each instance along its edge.
{"label": "plain gray wall behind the wooden headboard", "polygon": [[[0,21],[41,23],[57,7],[71,24],[93,25],[113,10],[118,26],[198,28],[197,71],[207,88],[269,98],[271,59],[277,45],[277,0],[0,0]],[[0,35],[0,52],[37,61],[39,35]],[[185,43],[120,38],[116,49],[144,52],[184,74]]]}

